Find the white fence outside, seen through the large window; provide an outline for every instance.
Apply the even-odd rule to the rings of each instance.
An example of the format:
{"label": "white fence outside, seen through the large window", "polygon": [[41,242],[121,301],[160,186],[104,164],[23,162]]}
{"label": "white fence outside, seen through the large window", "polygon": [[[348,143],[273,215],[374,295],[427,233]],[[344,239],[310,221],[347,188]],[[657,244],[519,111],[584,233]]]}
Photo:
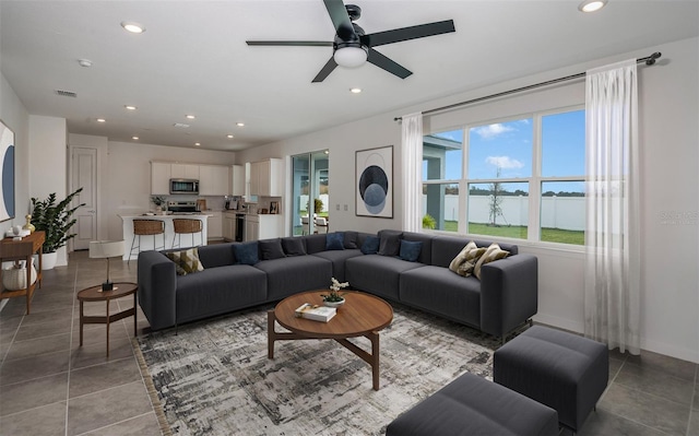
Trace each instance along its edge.
{"label": "white fence outside, seen through the large window", "polygon": [[[500,209],[496,224],[528,225],[529,197],[501,197]],[[423,216],[427,211],[427,196],[423,196]],[[445,196],[445,220],[459,221],[459,196]],[[471,196],[469,198],[469,221],[472,223],[490,222],[490,197]],[[567,231],[585,229],[585,199],[584,197],[543,197],[541,211],[541,226],[547,228],[562,228]]]}

